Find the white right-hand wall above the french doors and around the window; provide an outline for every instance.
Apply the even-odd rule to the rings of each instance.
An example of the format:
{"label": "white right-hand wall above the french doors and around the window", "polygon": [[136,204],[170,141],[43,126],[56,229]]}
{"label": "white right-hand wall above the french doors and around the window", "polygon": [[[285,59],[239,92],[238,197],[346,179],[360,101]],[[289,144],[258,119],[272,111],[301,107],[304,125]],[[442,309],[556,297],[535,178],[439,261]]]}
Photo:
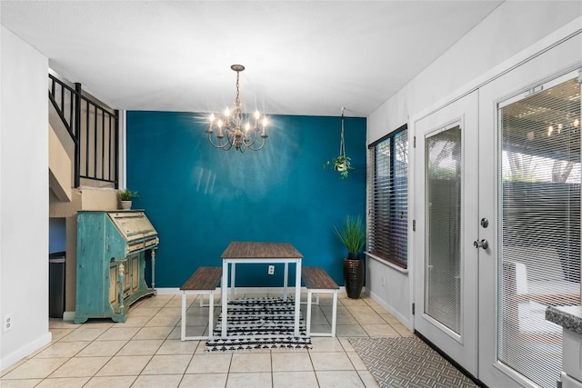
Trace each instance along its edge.
{"label": "white right-hand wall above the french doors and around the window", "polygon": [[[556,31],[580,15],[582,2],[579,1],[506,1],[499,5],[368,117],[368,143],[406,124],[411,116],[418,119],[421,114],[437,109],[527,59],[527,55],[542,48],[540,41],[547,45],[559,39],[560,33]],[[575,24],[582,28],[579,20]],[[413,206],[409,204],[409,214]],[[413,266],[413,248],[408,249],[409,268]],[[366,292],[412,327],[412,274],[402,274],[369,258],[367,268],[374,275],[366,279]],[[382,277],[385,286],[378,281]]]}

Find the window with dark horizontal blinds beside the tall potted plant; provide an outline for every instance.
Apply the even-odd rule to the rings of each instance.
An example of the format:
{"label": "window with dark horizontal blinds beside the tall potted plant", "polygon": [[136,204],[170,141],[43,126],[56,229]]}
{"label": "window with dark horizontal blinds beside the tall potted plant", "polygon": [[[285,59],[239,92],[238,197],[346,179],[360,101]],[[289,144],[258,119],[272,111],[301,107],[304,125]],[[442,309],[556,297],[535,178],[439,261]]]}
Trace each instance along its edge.
{"label": "window with dark horizontal blinds beside the tall potted plant", "polygon": [[368,145],[367,253],[407,268],[408,131]]}

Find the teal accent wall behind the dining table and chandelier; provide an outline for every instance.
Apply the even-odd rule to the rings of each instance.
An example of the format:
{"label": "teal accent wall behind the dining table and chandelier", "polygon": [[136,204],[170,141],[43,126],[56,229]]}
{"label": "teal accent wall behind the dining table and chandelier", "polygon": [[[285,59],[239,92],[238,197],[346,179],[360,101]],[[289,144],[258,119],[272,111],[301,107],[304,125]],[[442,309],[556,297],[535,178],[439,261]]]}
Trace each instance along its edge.
{"label": "teal accent wall behind the dining table and chandelier", "polygon": [[[224,152],[207,141],[206,117],[127,112],[127,186],[139,192],[160,237],[156,287],[179,287],[199,266],[219,266],[230,241],[288,242],[304,265],[343,285],[345,248],[333,226],[366,212],[366,119],[346,117],[346,180],[323,165],[339,152],[341,118],[271,116],[258,152]],[[236,284],[280,286],[283,267],[236,268]]]}

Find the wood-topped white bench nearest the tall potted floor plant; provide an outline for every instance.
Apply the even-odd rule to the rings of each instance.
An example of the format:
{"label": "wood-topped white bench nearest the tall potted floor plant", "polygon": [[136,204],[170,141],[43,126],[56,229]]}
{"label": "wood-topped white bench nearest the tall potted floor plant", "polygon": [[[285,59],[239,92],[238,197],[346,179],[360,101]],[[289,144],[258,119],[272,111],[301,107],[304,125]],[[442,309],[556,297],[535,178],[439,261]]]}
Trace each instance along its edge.
{"label": "wood-topped white bench nearest the tall potted floor plant", "polygon": [[[337,290],[339,286],[321,267],[304,266],[301,268],[301,278],[306,284],[307,289],[307,320],[306,335],[313,337],[335,337],[336,336],[336,319],[337,319]],[[331,316],[330,333],[313,333],[311,332],[311,301],[313,294],[316,294],[316,304],[319,304],[319,293],[333,294],[333,307]]]}

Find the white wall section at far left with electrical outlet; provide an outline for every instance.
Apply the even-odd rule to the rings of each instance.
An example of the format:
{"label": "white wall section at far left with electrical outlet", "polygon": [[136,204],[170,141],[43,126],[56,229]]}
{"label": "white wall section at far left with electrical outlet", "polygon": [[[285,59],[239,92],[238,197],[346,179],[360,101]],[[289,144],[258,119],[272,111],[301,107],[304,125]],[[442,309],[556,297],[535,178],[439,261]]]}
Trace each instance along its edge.
{"label": "white wall section at far left with electrical outlet", "polygon": [[[0,370],[48,331],[48,60],[0,26]],[[1,331],[0,331],[1,332]]]}

